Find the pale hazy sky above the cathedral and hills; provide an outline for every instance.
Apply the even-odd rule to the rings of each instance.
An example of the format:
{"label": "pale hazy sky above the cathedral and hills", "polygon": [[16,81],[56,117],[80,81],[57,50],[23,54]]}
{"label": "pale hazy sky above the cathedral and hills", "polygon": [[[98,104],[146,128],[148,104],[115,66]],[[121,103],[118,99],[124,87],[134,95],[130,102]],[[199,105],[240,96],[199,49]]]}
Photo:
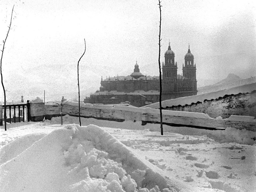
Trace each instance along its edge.
{"label": "pale hazy sky above the cathedral and hills", "polygon": [[[199,86],[228,73],[256,76],[254,2],[162,0],[161,63],[170,39],[178,73],[190,44]],[[99,89],[101,76],[130,75],[136,59],[142,73],[158,75],[157,0],[0,0],[1,50],[13,4],[2,68],[7,100],[42,98],[44,90],[46,100],[77,97],[84,38],[81,99]]]}

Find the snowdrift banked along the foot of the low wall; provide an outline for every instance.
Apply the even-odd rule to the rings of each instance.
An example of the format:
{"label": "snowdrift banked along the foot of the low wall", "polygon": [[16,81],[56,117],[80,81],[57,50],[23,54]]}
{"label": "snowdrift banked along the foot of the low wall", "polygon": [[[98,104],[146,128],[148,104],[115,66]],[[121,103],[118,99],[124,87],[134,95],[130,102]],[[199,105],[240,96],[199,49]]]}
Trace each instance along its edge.
{"label": "snowdrift banked along the foot of the low wall", "polygon": [[[63,116],[64,124],[76,123],[79,124],[79,119],[77,117],[72,117],[69,115]],[[141,125],[141,121],[124,121],[124,122],[115,122],[115,121],[106,121],[99,120],[94,118],[81,118],[83,125],[95,124],[100,127],[112,127],[117,129],[129,129],[129,130],[148,130],[148,131],[160,131],[159,124],[146,124]],[[46,120],[46,123],[49,124],[60,124],[60,117],[53,117],[51,121]],[[219,128],[219,130],[206,130],[198,129],[192,127],[175,127],[163,125],[164,132],[166,133],[178,133],[183,135],[196,135],[204,136],[206,135],[210,139],[215,140],[216,142],[226,143],[226,142],[235,142],[239,144],[253,145],[256,144],[256,132],[248,131],[246,129],[236,129],[233,127]],[[188,143],[193,144],[193,143]]]}

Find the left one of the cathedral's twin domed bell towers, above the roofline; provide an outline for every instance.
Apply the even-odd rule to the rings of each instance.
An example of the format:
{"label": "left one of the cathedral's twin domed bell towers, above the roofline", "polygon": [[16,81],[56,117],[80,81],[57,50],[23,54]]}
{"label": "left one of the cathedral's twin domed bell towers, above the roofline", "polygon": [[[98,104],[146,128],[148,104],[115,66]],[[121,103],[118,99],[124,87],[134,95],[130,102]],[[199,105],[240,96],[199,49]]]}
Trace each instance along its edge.
{"label": "left one of the cathedral's twin domed bell towers, above the roofline", "polygon": [[177,80],[177,63],[174,62],[174,52],[171,49],[170,42],[168,50],[164,53],[165,63],[163,64],[163,80],[176,81]]}

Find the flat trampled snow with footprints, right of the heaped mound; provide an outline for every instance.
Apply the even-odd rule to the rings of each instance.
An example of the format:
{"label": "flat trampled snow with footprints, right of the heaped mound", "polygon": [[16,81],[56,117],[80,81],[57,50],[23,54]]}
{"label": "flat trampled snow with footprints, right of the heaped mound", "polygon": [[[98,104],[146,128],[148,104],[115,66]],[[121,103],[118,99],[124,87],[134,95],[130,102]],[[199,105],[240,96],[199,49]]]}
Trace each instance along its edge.
{"label": "flat trampled snow with footprints, right of the heaped mound", "polygon": [[[134,132],[136,132],[134,137],[130,136],[127,130],[116,131],[113,135],[131,149],[140,151],[139,153],[144,154],[148,162],[164,171],[169,177],[175,176],[182,182],[204,188],[202,191],[206,190],[205,188],[219,189],[225,192],[236,190],[236,186],[238,186],[236,181],[240,182],[239,185],[244,185],[242,175],[230,171],[237,170],[237,166],[246,168],[246,161],[249,161],[246,151],[252,146],[238,143],[218,143],[206,135],[164,133],[164,136],[161,136],[159,132],[149,132],[148,130]],[[210,156],[204,155],[209,153]],[[167,154],[168,158],[164,158],[162,161],[161,156],[167,156]],[[246,158],[242,160],[242,156]],[[243,164],[236,165],[238,161],[243,161]],[[250,159],[250,161],[255,160]],[[254,172],[252,176],[254,176]],[[212,186],[208,182],[209,180],[220,180],[226,187],[221,185],[218,187],[214,183]],[[252,180],[253,178],[248,178],[249,183],[252,183]]]}

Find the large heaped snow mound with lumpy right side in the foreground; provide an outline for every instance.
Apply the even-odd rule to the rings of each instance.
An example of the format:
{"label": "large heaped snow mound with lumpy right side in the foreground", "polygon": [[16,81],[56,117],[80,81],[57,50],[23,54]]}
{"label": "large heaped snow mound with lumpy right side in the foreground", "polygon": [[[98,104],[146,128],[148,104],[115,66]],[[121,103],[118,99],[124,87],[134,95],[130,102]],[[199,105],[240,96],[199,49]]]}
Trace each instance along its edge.
{"label": "large heaped snow mound with lumpy right side in the foreground", "polygon": [[0,165],[3,192],[180,190],[96,125],[69,124],[46,136],[24,136],[1,153],[8,150],[16,151]]}

